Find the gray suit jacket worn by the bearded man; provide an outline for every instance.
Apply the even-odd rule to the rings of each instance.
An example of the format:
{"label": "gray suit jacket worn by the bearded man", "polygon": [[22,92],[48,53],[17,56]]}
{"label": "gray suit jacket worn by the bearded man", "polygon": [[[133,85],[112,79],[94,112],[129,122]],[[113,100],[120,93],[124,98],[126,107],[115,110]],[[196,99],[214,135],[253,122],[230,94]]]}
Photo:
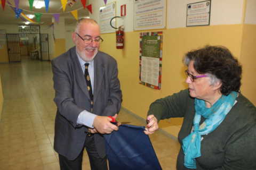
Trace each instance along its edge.
{"label": "gray suit jacket worn by the bearded man", "polygon": [[[77,125],[79,113],[90,112],[90,96],[79,64],[76,48],[52,60],[55,104],[54,149],[74,160],[83,150],[87,127]],[[93,113],[113,116],[119,112],[122,92],[117,77],[116,60],[106,53],[98,52],[94,58]],[[95,145],[101,157],[105,154],[105,141],[101,134],[94,134]]]}

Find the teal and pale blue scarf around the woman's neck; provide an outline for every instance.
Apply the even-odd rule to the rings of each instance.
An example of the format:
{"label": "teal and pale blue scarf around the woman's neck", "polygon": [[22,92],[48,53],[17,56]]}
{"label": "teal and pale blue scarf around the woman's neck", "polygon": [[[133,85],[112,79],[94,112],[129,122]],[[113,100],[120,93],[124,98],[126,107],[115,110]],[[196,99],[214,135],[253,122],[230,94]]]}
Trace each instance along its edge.
{"label": "teal and pale blue scarf around the woman's neck", "polygon": [[[222,95],[210,108],[205,107],[204,100],[195,99],[194,130],[182,140],[182,149],[185,154],[184,165],[187,168],[196,169],[195,158],[201,156],[201,135],[214,131],[220,125],[235,104],[237,95],[235,91],[228,96]],[[206,119],[199,126],[201,116]]]}

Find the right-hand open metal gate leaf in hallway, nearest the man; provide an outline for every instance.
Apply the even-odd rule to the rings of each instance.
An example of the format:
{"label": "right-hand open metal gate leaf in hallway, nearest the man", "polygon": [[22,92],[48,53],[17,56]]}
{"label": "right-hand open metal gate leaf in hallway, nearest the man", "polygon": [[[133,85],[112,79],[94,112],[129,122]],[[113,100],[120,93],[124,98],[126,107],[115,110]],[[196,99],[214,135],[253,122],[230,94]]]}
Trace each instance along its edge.
{"label": "right-hand open metal gate leaf in hallway, nearest the man", "polygon": [[50,61],[49,54],[49,38],[47,33],[40,34],[40,49],[41,49],[41,58],[42,61]]}

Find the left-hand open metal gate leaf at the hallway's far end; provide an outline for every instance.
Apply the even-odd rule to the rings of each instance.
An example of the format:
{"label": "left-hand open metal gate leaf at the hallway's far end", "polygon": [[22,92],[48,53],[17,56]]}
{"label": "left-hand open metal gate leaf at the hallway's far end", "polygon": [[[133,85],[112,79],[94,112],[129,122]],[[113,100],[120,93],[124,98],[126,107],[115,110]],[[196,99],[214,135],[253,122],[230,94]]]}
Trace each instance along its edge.
{"label": "left-hand open metal gate leaf at the hallway's far end", "polygon": [[19,33],[6,33],[9,62],[21,62]]}

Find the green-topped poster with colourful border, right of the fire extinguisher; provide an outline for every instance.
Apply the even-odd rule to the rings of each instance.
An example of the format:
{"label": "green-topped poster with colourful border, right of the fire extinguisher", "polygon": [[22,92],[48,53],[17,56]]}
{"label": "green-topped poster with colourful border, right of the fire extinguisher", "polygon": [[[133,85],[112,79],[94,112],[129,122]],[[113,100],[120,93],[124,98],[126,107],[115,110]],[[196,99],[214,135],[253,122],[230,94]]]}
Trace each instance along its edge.
{"label": "green-topped poster with colourful border, right of the fire extinguisher", "polygon": [[163,32],[140,33],[140,84],[161,89]]}

